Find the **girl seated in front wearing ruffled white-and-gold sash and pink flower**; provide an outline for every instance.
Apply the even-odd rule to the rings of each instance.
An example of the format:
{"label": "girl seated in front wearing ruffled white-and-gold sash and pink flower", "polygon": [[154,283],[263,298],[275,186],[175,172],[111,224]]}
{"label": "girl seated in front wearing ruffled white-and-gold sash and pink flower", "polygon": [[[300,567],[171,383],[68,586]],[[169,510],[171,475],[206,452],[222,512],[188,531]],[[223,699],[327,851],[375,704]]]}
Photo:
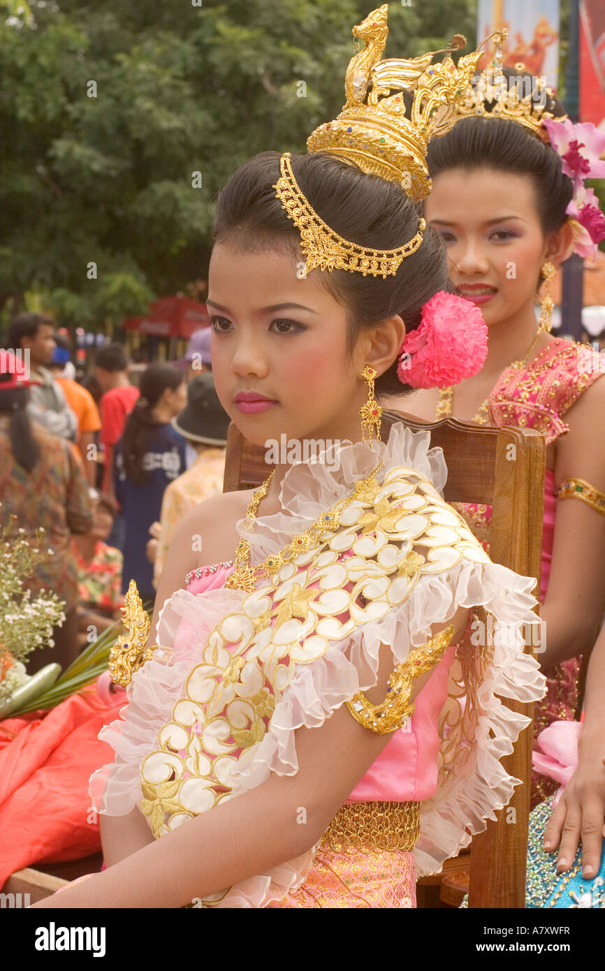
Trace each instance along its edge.
{"label": "girl seated in front wearing ruffled white-and-gold sash and pink flower", "polygon": [[[477,57],[382,63],[454,92]],[[107,869],[41,906],[412,907],[416,876],[512,794],[498,759],[527,720],[506,700],[544,690],[522,653],[534,581],[491,563],[441,498],[428,433],[399,423],[380,440],[374,396],[375,380],[401,386],[406,330],[452,318],[468,375],[486,328],[401,185],[414,141],[411,191],[425,192],[425,142],[400,95],[405,155],[384,101],[386,134],[372,128],[355,77],[309,154],[257,155],[220,192],[208,300],[218,395],[243,435],[336,444],[179,526],[151,658],[114,659],[134,675],[102,733],[116,760],[91,780]],[[464,640],[478,605],[512,631],[493,653]]]}

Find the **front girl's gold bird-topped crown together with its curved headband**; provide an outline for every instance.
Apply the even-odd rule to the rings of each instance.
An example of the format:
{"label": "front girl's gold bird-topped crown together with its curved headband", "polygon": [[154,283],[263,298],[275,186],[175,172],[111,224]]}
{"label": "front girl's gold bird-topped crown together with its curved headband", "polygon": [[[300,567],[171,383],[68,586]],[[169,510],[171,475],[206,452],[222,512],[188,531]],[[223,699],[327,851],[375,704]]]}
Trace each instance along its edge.
{"label": "front girl's gold bird-topped crown together with its curved headband", "polygon": [[[466,38],[456,34],[444,49],[446,57],[441,62],[432,61],[443,50],[429,50],[409,59],[382,60],[387,45],[387,13],[388,5],[383,4],[353,27],[353,36],[363,40],[365,47],[354,54],[347,70],[347,104],[333,121],[316,128],[307,148],[333,154],[368,175],[395,182],[420,201],[431,187],[426,168],[428,141],[454,126],[455,102],[464,96],[482,51],[475,50],[454,64],[451,51],[466,44]],[[406,115],[404,90],[414,93],[410,117]],[[419,220],[417,234],[395,250],[373,250],[343,239],[319,217],[299,188],[289,152],[282,155],[281,178],[274,188],[288,218],[300,230],[305,275],[319,267],[386,278],[393,276],[401,261],[417,251],[422,242],[424,219]]]}

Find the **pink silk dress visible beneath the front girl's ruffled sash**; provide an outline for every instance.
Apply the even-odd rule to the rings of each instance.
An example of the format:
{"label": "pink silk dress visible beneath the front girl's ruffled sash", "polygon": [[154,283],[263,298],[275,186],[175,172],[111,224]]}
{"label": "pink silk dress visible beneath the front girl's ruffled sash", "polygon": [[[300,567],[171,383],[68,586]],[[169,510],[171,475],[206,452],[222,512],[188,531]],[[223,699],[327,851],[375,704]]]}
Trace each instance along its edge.
{"label": "pink silk dress visible beneath the front girl's ruffled sash", "polygon": [[[194,595],[218,589],[231,570],[224,564],[202,567],[193,576],[187,576],[185,588]],[[393,732],[387,746],[353,788],[347,803],[421,802],[434,795],[440,743],[437,722],[448,696],[448,671],[454,653],[455,645],[451,645],[419,692],[411,720]],[[339,854],[319,848],[303,886],[269,907],[416,907],[413,854],[403,850],[368,853],[351,849]]]}

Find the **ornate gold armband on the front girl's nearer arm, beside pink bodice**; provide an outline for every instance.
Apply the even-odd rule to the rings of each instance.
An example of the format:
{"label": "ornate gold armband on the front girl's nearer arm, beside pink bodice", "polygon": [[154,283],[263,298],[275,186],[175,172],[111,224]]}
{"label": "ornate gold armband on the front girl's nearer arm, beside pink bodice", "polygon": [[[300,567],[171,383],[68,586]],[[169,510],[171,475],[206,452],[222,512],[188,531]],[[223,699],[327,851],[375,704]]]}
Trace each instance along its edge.
{"label": "ornate gold armband on the front girl's nearer arm, beside pink bodice", "polygon": [[421,648],[414,648],[407,660],[398,664],[389,675],[387,697],[380,705],[373,705],[362,691],[347,702],[347,708],[364,728],[387,735],[401,728],[414,712],[414,702],[410,701],[412,683],[415,678],[430,671],[441,660],[454,637],[454,624],[435,634]]}

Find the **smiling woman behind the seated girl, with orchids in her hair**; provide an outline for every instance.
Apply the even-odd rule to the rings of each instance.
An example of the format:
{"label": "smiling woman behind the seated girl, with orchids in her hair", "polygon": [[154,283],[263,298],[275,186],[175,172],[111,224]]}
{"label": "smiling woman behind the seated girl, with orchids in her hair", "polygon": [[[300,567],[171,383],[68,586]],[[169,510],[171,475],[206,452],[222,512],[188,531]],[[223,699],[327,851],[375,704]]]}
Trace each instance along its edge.
{"label": "smiling woman behind the seated girl, with orchids in her hair", "polygon": [[[541,655],[548,694],[535,707],[537,738],[554,720],[576,716],[579,655],[592,647],[604,602],[605,381],[598,379],[605,361],[551,334],[550,280],[572,249],[592,256],[605,236],[605,218],[584,184],[605,175],[599,160],[605,134],[573,125],[552,92],[521,67],[505,68],[503,78],[497,69],[476,75],[453,130],[431,142],[427,157],[433,187],[424,213],[446,243],[457,292],[486,320],[486,363],[455,388],[418,391],[405,410],[427,421],[454,415],[535,428],[546,438],[540,613],[548,632]],[[400,402],[394,398],[391,407]],[[456,508],[488,550],[490,508]],[[601,712],[603,689],[591,695]],[[549,834],[553,846],[563,825],[575,834],[575,847],[566,839],[560,853],[568,866],[582,829],[587,872],[594,875],[605,809],[600,713],[592,713],[589,726]],[[532,804],[555,787],[535,772]]]}

